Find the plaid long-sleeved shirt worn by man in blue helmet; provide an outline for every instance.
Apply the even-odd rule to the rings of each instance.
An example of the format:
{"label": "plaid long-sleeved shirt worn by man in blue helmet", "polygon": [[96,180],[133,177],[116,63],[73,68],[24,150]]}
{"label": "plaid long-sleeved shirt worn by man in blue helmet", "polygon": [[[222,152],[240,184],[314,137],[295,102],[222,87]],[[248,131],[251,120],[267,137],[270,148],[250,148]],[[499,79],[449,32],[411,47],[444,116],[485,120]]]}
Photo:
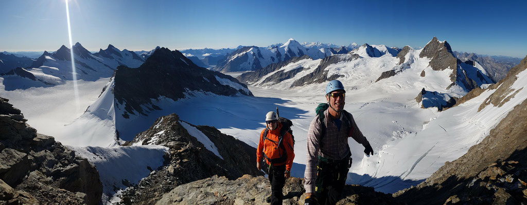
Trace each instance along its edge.
{"label": "plaid long-sleeved shirt worn by man in blue helmet", "polygon": [[[328,109],[329,110],[329,109]],[[333,121],[329,111],[324,111],[326,123],[326,135],[322,139],[323,147],[319,146],[321,124],[318,120],[318,115],[311,121],[309,131],[307,132],[307,156],[306,156],[306,171],[304,172],[306,193],[315,192],[315,180],[317,177],[318,155],[329,159],[344,159],[349,154],[348,146],[348,123],[345,122],[345,114],[340,114],[340,131]],[[360,132],[353,115],[350,114],[350,124],[353,126],[353,133],[351,137],[360,144],[367,144],[368,140],[362,132]]]}

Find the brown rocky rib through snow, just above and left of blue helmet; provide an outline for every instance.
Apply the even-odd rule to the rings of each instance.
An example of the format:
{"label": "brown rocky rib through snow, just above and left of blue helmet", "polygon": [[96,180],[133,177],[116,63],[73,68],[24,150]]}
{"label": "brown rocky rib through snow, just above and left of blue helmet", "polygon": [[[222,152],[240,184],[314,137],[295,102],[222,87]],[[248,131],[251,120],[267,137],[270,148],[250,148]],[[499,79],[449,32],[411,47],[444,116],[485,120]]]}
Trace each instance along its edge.
{"label": "brown rocky rib through snow, just above and left of blue helmet", "polygon": [[360,58],[360,56],[356,54],[328,56],[322,59],[322,61],[320,61],[320,64],[315,69],[315,71],[296,80],[295,82],[292,83],[291,87],[297,87],[297,86],[302,86],[305,84],[322,83],[322,82],[326,82],[329,80],[335,80],[340,76],[335,74],[335,75],[331,75],[328,77],[327,76],[328,71],[324,69],[326,69],[330,64],[335,64],[335,63],[342,62],[342,61],[352,61],[358,58]]}

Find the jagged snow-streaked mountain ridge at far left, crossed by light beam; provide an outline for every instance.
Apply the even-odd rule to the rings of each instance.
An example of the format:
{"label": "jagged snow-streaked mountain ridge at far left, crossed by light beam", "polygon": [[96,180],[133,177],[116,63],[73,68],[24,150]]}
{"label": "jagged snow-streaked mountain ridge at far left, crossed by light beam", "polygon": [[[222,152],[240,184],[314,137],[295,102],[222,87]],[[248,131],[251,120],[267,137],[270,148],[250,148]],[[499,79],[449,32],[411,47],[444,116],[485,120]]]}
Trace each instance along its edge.
{"label": "jagged snow-streaked mountain ridge at far left, crossed by light beam", "polygon": [[[112,77],[116,67],[126,65],[138,67],[144,60],[134,52],[119,49],[109,45],[106,50],[95,54],[86,50],[79,42],[72,47],[76,79],[96,81],[100,78]],[[2,74],[6,90],[27,89],[31,87],[51,87],[73,80],[71,50],[62,45],[55,52],[44,51],[42,56],[30,66],[18,69],[18,72]],[[21,74],[24,73],[24,74]],[[29,77],[31,76],[31,77]]]}

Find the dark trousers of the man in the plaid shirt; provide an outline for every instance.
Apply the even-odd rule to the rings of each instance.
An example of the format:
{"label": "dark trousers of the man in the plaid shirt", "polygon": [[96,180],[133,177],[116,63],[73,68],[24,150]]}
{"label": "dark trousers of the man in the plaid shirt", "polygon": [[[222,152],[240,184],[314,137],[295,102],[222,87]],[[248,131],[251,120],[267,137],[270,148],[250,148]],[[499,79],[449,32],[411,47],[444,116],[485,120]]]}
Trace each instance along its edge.
{"label": "dark trousers of the man in the plaid shirt", "polygon": [[348,162],[320,163],[317,169],[315,196],[319,204],[336,204],[346,185]]}

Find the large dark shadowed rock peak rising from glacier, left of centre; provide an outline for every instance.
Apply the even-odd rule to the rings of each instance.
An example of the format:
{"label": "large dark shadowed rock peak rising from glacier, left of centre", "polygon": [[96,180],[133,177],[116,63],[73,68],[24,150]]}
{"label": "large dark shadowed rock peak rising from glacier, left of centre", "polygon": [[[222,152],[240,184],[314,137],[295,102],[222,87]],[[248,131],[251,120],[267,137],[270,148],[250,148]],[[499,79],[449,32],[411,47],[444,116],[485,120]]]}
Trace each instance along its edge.
{"label": "large dark shadowed rock peak rising from glacier, left of centre", "polygon": [[141,108],[142,104],[151,105],[151,99],[158,99],[161,96],[175,101],[184,98],[184,92],[187,91],[212,92],[218,95],[237,93],[252,95],[250,92],[246,93],[223,85],[216,77],[228,79],[247,88],[247,85],[230,75],[196,66],[177,50],[160,48],[155,50],[139,68],[119,66],[115,71],[113,93],[119,104],[125,103],[125,115],[136,113],[146,115],[148,111]]}

